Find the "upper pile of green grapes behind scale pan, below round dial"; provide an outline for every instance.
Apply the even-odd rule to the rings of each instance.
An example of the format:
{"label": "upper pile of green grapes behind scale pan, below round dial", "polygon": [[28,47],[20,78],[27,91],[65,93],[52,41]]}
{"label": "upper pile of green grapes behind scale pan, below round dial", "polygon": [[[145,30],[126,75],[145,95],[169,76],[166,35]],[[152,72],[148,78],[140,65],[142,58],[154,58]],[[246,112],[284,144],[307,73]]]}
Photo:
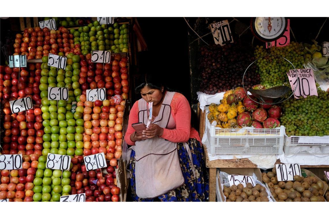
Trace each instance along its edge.
{"label": "upper pile of green grapes behind scale pan, below round dial", "polygon": [[[254,51],[256,59],[268,53],[288,59],[296,69],[303,68],[304,52],[301,43],[291,42],[288,46],[271,47],[269,50],[263,46],[256,46]],[[287,72],[293,69],[292,65],[285,59],[271,55],[257,60],[256,65],[256,72],[261,76],[261,84],[265,85],[266,88],[288,82]]]}

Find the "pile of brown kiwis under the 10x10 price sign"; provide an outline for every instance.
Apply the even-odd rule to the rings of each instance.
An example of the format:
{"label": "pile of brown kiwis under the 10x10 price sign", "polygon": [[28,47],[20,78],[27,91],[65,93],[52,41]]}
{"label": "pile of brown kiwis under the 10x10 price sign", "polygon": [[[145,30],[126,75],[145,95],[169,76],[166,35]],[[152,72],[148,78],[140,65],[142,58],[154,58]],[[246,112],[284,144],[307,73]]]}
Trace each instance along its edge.
{"label": "pile of brown kiwis under the 10x10 price sign", "polygon": [[[278,182],[276,169],[267,173],[262,173],[264,183],[267,183],[272,196],[277,202],[324,202],[323,185],[325,182],[318,180],[314,176],[295,175],[295,182]],[[328,197],[327,197],[328,201]]]}

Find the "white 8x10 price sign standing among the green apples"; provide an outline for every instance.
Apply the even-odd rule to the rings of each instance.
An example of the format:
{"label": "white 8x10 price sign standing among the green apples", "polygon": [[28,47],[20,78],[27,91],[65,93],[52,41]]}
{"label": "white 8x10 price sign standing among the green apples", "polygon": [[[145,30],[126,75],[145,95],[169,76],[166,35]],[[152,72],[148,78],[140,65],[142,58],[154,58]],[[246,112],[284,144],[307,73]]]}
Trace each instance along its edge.
{"label": "white 8x10 price sign standing among the green apples", "polygon": [[69,170],[71,164],[71,157],[68,155],[51,154],[48,153],[46,168],[48,169],[59,169]]}

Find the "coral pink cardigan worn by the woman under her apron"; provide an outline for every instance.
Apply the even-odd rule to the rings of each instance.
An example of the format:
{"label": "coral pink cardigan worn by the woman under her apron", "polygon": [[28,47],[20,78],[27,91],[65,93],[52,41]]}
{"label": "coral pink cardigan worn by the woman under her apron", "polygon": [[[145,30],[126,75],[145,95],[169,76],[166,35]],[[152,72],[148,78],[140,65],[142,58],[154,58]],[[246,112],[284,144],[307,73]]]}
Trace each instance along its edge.
{"label": "coral pink cardigan worn by the woman under her apron", "polygon": [[[184,95],[176,93],[171,100],[171,117],[176,122],[175,129],[164,128],[164,133],[161,138],[171,142],[187,142],[190,138],[195,138],[201,142],[199,133],[191,127],[191,109],[188,100]],[[135,132],[131,126],[133,123],[139,122],[138,119],[138,101],[136,101],[130,110],[128,128],[125,133],[124,139],[127,144],[134,145],[135,143],[130,140],[130,135]]]}

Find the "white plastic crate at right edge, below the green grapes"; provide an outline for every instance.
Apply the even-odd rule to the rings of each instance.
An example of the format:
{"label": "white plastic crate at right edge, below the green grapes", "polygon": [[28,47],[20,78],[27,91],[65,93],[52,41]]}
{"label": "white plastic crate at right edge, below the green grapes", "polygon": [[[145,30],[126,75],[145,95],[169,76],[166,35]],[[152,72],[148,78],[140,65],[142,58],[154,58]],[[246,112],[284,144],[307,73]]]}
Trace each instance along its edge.
{"label": "white plastic crate at right edge, below the green grapes", "polygon": [[284,152],[287,155],[329,155],[329,136],[288,137],[287,135],[285,135]]}

